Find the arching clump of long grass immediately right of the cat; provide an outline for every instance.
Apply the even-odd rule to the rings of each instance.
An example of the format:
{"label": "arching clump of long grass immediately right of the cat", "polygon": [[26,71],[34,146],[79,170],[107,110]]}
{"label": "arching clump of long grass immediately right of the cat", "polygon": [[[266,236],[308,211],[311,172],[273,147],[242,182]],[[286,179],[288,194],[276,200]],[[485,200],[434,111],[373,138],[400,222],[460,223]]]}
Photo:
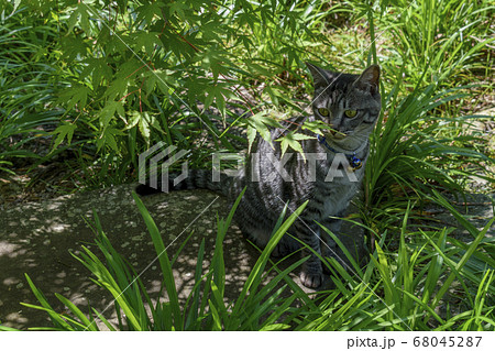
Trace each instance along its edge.
{"label": "arching clump of long grass immediately right of the cat", "polygon": [[[483,169],[482,162],[494,162],[476,149],[482,139],[452,132],[458,123],[475,117],[444,118],[436,113],[436,109],[464,96],[460,92],[463,87],[438,92],[437,85],[431,84],[400,99],[400,84],[397,77],[392,91],[383,97],[388,113],[382,114],[374,130],[366,165],[362,210],[370,224],[381,227],[378,231],[400,220],[409,201],[422,205],[435,188],[462,193],[459,179]],[[463,167],[466,158],[471,169]],[[485,178],[492,179],[490,174]]]}

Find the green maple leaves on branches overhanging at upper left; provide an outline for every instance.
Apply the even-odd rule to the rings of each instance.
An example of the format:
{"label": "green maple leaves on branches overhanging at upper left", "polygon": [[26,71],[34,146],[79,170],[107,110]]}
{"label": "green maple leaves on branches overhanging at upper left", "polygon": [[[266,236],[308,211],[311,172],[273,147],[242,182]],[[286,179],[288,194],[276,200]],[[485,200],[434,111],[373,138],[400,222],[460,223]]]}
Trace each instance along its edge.
{"label": "green maple leaves on branches overhanging at upper left", "polygon": [[[64,121],[54,132],[54,147],[64,140],[70,143],[77,127],[94,135],[98,150],[135,162],[136,153],[127,155],[125,150],[140,140],[150,145],[152,134],[180,145],[188,134],[206,129],[232,150],[207,109],[215,106],[224,118],[227,99],[245,101],[239,89],[248,83],[242,77],[263,79],[300,65],[296,48],[308,40],[326,40],[311,32],[321,17],[316,3],[119,1],[103,7],[100,1],[47,1],[31,2],[13,15],[35,11],[63,34],[57,50],[68,85],[58,91]],[[296,37],[294,47],[288,43]],[[266,90],[275,100],[290,100],[275,87]]]}

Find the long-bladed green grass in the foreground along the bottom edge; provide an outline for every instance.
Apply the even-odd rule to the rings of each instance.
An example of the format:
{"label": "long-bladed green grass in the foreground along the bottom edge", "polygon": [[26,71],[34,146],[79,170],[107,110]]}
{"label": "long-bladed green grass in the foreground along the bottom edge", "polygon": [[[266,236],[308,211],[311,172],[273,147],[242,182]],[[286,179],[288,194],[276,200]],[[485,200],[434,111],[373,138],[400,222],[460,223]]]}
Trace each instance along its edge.
{"label": "long-bladed green grass in the foreground along the bottom edge", "polygon": [[[440,201],[446,201],[437,196]],[[304,210],[304,204],[287,220],[283,221],[280,216],[239,297],[226,301],[228,270],[223,262],[223,239],[240,199],[227,219],[218,221],[215,252],[206,271],[202,268],[205,241],[201,242],[195,284],[186,301],[178,298],[173,275],[173,263],[180,250],[172,260],[168,257],[161,233],[138,196],[134,195],[134,200],[160,261],[164,279],[160,296],[166,293],[165,300],[151,298],[140,276],[111,245],[95,213],[99,254],[82,246],[82,252],[74,256],[92,274],[94,282],[113,296],[117,323],[91,307],[88,307],[89,315],[82,312],[59,294],[55,295],[69,312],[57,312],[26,276],[41,305],[22,305],[46,311],[54,325],[31,330],[495,330],[492,284],[495,239],[486,237],[495,219],[480,231],[451,208],[473,235],[473,242],[466,245],[452,240],[449,229],[409,232],[409,211],[406,211],[397,252],[386,251],[384,235],[376,244],[371,262],[361,267],[338,242],[350,257],[352,268],[343,268],[336,259],[328,261],[326,264],[334,273],[336,288],[316,293],[311,298],[288,276],[305,259],[284,271],[268,264],[271,252]],[[186,243],[187,239],[182,248]],[[272,270],[276,275],[267,281]],[[457,296],[463,297],[463,305],[449,305],[449,298]],[[453,307],[455,312],[451,311]],[[0,330],[11,328],[0,326]]]}

